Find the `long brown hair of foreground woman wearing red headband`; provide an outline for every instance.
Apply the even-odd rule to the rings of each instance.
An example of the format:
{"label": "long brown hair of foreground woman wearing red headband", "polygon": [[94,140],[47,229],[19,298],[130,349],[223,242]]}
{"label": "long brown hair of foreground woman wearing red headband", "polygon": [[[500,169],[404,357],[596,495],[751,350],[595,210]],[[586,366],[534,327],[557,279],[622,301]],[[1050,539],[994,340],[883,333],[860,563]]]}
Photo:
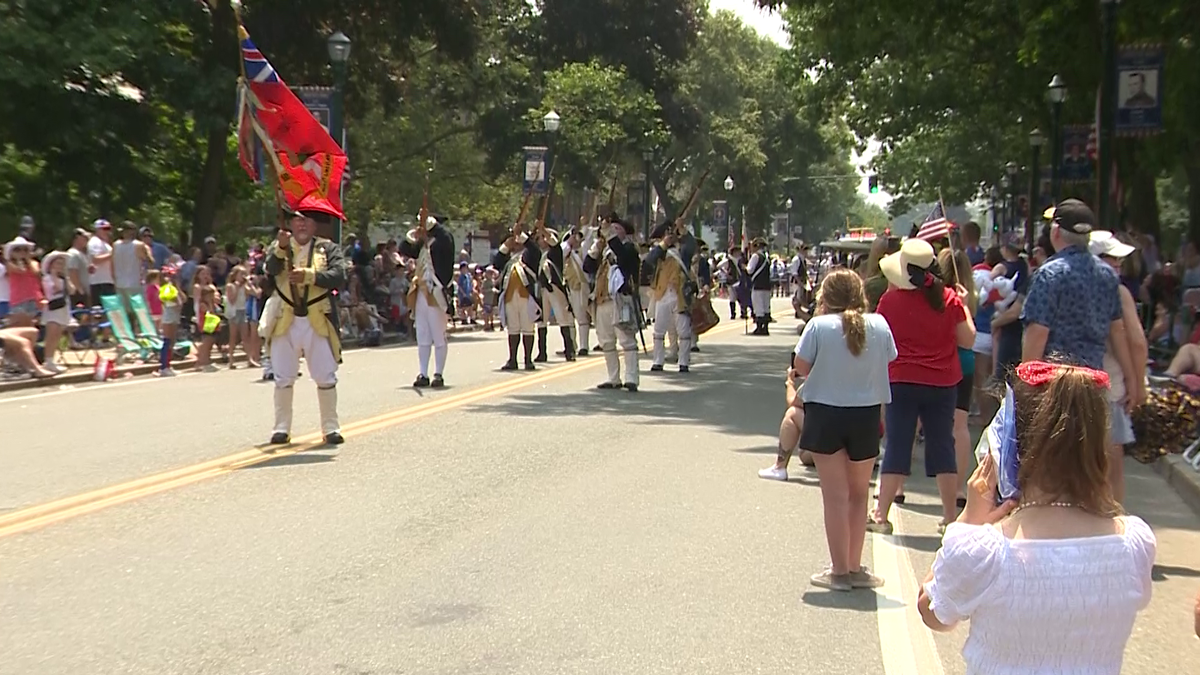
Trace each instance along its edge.
{"label": "long brown hair of foreground woman wearing red headband", "polygon": [[1097,515],[1122,513],[1108,482],[1105,389],[1087,371],[1066,366],[1038,387],[1013,380],[1021,489]]}

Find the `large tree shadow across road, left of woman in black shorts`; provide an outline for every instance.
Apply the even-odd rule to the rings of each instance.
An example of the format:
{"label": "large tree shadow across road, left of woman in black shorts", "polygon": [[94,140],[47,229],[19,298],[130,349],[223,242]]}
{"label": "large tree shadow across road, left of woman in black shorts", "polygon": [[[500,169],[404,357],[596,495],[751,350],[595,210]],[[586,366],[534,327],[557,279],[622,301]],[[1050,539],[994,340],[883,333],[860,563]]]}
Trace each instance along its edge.
{"label": "large tree shadow across road, left of woman in black shorts", "polygon": [[[692,371],[650,374],[649,357],[641,359],[641,390],[602,392],[594,388],[605,375],[575,393],[514,394],[480,404],[475,412],[516,417],[647,416],[648,424],[700,424],[738,436],[774,436],[785,407],[784,371],[788,347],[764,344],[708,345]],[[666,386],[667,388],[660,388]],[[734,402],[731,402],[734,401]],[[745,450],[755,452],[755,450]],[[769,454],[774,454],[770,448]],[[768,450],[763,450],[768,454]]]}

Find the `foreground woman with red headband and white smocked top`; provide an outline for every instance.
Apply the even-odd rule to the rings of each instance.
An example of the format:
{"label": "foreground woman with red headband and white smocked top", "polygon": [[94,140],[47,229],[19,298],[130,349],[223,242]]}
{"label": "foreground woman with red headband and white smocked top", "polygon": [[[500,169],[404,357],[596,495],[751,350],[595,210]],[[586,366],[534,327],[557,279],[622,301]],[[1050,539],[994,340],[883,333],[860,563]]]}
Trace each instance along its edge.
{"label": "foreground woman with red headband and white smocked top", "polygon": [[1109,488],[1108,387],[1099,370],[1016,368],[917,601],[934,631],[971,621],[967,673],[1121,671],[1156,540]]}

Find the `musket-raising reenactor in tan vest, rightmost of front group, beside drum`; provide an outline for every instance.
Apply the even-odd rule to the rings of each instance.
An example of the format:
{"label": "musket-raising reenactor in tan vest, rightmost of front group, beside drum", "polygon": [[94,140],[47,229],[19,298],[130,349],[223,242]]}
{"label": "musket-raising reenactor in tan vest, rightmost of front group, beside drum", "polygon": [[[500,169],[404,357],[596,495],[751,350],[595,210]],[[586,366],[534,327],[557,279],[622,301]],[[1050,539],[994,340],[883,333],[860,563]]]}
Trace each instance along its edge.
{"label": "musket-raising reenactor in tan vest, rightmost of front group, beside drum", "polygon": [[[682,228],[680,228],[682,229]],[[654,307],[654,365],[650,372],[660,372],[666,360],[666,338],[674,328],[679,351],[679,372],[688,372],[691,365],[691,303],[696,298],[696,277],[692,261],[696,256],[696,238],[673,222],[664,222],[650,235],[658,243],[650,247],[646,261],[652,270],[650,297]]]}

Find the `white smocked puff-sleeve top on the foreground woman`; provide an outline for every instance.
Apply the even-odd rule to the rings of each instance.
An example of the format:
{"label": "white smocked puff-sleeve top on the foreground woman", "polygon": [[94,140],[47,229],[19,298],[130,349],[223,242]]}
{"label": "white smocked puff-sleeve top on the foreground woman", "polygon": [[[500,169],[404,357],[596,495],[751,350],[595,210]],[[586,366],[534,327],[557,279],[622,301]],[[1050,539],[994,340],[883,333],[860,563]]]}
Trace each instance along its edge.
{"label": "white smocked puff-sleeve top on the foreground woman", "polygon": [[942,623],[970,620],[968,675],[1118,675],[1138,613],[1150,604],[1154,533],[1008,539],[950,524],[925,585]]}

